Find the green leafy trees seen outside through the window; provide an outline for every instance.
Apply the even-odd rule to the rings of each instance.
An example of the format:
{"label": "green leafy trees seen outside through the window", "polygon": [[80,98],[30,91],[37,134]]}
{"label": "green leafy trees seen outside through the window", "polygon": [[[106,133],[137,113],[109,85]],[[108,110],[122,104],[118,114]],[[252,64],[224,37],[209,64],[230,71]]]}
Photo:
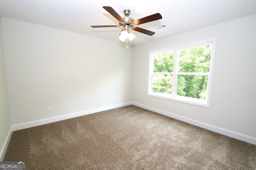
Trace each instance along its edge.
{"label": "green leafy trees seen outside through the window", "polygon": [[[177,76],[177,96],[206,100],[212,45],[202,45],[154,53],[152,92],[172,94],[173,76]],[[177,55],[178,69],[174,70]]]}

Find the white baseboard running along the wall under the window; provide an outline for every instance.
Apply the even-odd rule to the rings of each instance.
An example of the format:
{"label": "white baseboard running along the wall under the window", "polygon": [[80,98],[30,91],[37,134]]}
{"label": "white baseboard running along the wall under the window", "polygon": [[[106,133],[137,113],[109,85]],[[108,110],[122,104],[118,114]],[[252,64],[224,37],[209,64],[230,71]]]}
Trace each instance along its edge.
{"label": "white baseboard running along the wall under the window", "polygon": [[232,137],[232,138],[235,138],[235,139],[238,139],[238,140],[245,141],[245,142],[256,145],[256,138],[255,137],[250,137],[250,136],[247,136],[247,135],[244,135],[244,134],[241,134],[241,133],[230,131],[228,129],[223,129],[221,127],[216,127],[214,125],[210,125],[210,124],[207,124],[207,123],[204,123],[204,122],[200,122],[200,121],[197,121],[197,120],[194,120],[194,119],[190,119],[188,117],[176,115],[174,113],[170,113],[170,112],[167,112],[167,111],[156,109],[154,107],[142,105],[142,104],[139,104],[139,103],[136,103],[136,102],[132,102],[132,104],[134,106],[142,107],[144,109],[154,111],[156,113],[160,113],[162,115],[166,115],[168,117],[172,117],[174,119],[184,121],[186,123],[196,125],[198,127],[202,127],[204,129],[207,129],[207,130],[210,130],[210,131],[213,131],[213,132],[216,132],[216,133],[220,133],[222,135],[226,135],[228,137]]}

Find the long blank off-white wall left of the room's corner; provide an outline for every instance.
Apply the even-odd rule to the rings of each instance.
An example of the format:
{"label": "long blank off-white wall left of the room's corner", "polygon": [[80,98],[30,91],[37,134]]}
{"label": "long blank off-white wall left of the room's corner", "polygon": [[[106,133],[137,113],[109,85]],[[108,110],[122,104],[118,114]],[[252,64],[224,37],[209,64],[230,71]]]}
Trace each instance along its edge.
{"label": "long blank off-white wall left of the room's corner", "polygon": [[12,125],[132,100],[130,49],[42,25],[2,23]]}

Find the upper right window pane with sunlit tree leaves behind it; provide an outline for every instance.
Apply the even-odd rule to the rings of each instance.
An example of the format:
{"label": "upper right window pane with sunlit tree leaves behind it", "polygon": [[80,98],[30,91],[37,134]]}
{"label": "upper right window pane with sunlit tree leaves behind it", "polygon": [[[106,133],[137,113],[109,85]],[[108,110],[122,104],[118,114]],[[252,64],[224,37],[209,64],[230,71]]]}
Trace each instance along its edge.
{"label": "upper right window pane with sunlit tree leaves behind it", "polygon": [[212,45],[179,50],[179,72],[209,72]]}

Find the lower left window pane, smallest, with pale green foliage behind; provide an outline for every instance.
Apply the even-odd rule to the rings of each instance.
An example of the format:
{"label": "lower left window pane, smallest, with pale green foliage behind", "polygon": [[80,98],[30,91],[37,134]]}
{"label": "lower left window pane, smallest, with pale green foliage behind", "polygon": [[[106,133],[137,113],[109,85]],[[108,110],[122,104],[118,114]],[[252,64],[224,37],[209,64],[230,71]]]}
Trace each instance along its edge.
{"label": "lower left window pane, smallest, with pale green foliage behind", "polygon": [[156,93],[172,93],[172,75],[153,74],[152,92]]}

